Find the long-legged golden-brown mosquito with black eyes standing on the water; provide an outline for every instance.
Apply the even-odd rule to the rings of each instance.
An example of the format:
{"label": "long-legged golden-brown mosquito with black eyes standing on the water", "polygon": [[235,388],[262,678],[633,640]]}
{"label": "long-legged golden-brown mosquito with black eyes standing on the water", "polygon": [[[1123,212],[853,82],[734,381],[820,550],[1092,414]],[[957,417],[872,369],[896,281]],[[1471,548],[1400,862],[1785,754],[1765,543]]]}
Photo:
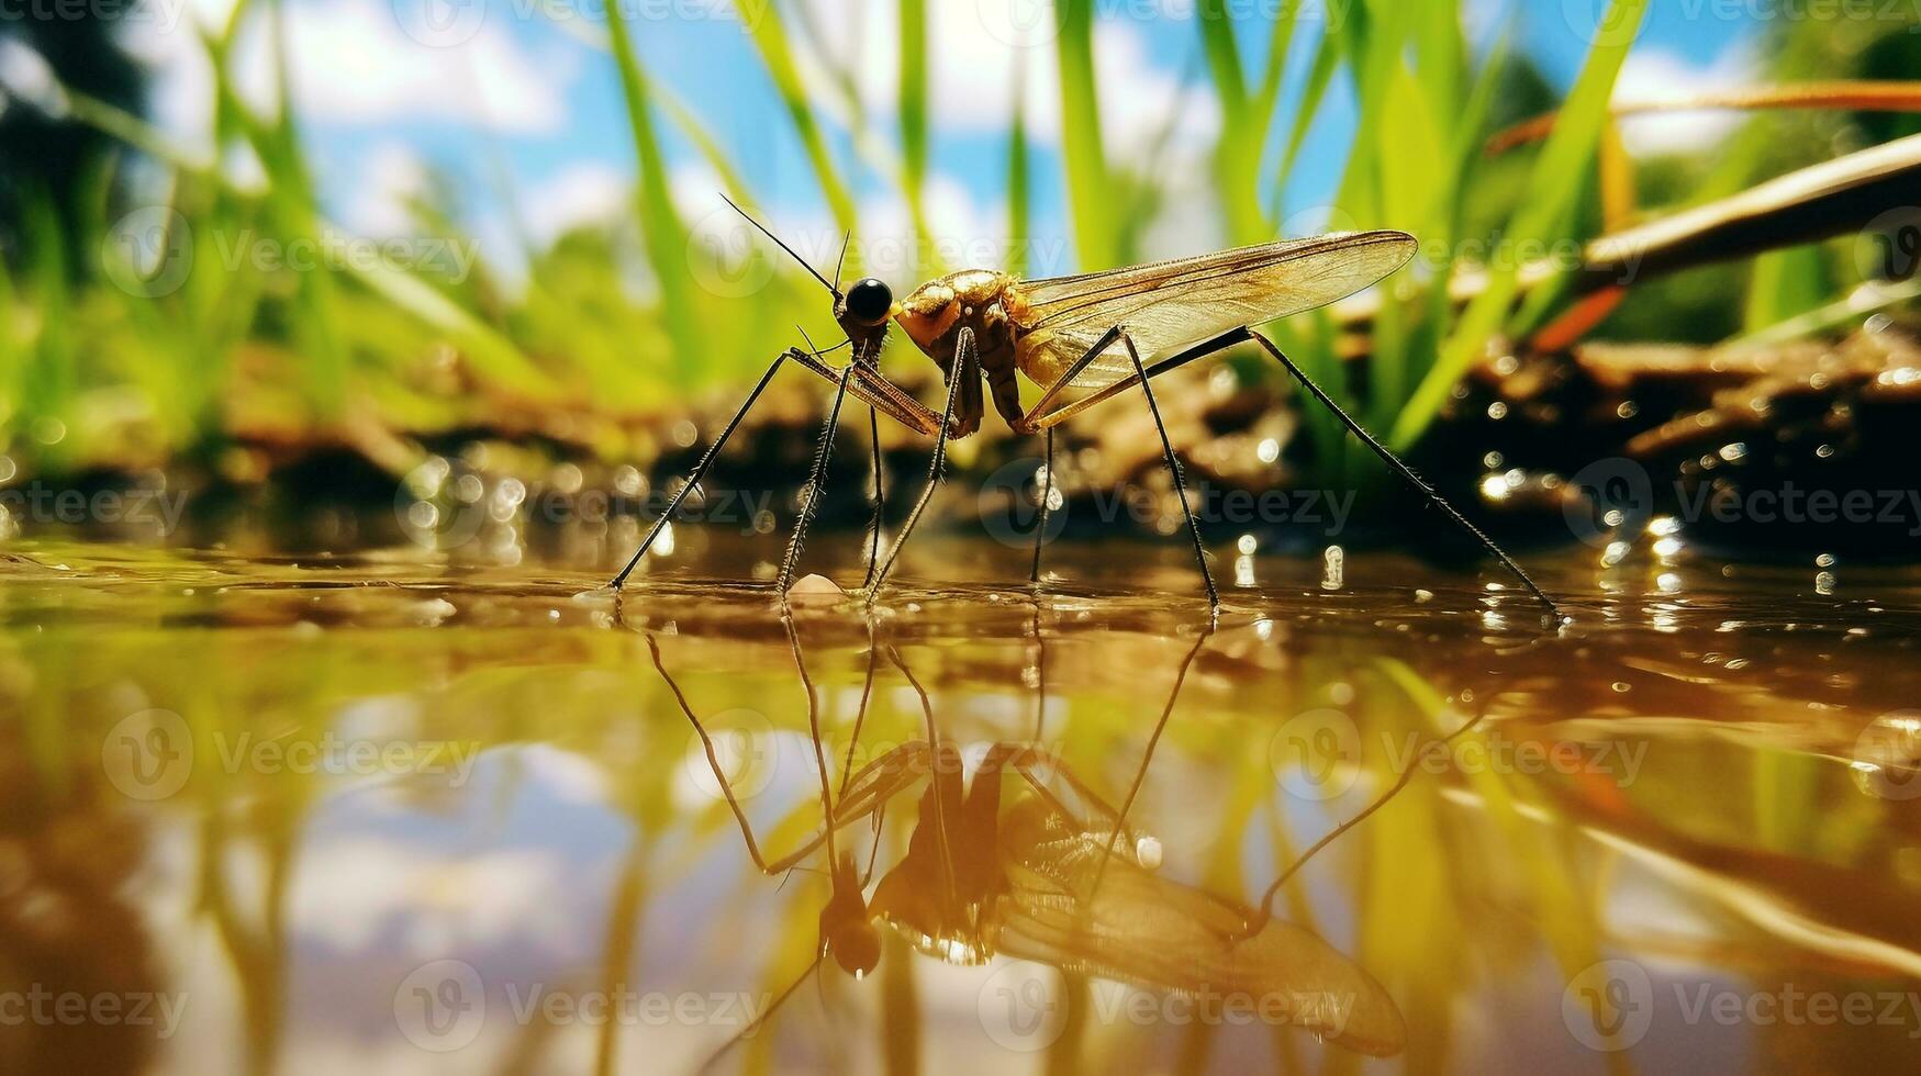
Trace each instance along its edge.
{"label": "long-legged golden-brown mosquito with black eyes standing on the water", "polygon": [[[834,405],[822,428],[820,448],[815,453],[807,500],[793,525],[788,553],[782,559],[776,580],[782,599],[786,599],[788,588],[793,582],[801,546],[813,523],[815,505],[822,496],[828,453],[839,427],[841,405],[849,394],[868,404],[870,421],[876,421],[872,415],[884,413],[909,430],[934,438],[934,459],[928,467],[928,480],[914,507],[907,513],[901,532],[888,548],[886,557],[880,555],[880,521],[876,515],[874,550],[864,582],[866,599],[872,603],[893,571],[901,548],[912,536],[928,501],[943,480],[947,440],[964,438],[980,430],[987,409],[987,396],[993,398],[995,411],[999,411],[1012,432],[1024,436],[1041,434],[1045,438],[1041,515],[1035,526],[1033,569],[1030,573],[1030,582],[1037,584],[1041,578],[1041,544],[1047,534],[1045,513],[1053,498],[1055,427],[1139,386],[1147,402],[1147,411],[1155,421],[1155,430],[1160,434],[1160,452],[1174,477],[1174,494],[1181,501],[1195,561],[1201,567],[1201,580],[1206,586],[1208,605],[1218,611],[1220,590],[1214,586],[1214,573],[1206,563],[1201,525],[1187,503],[1187,484],[1181,465],[1174,453],[1174,442],[1168,438],[1166,423],[1160,421],[1160,405],[1149,382],[1235,344],[1252,342],[1279,361],[1308,396],[1331,411],[1349,432],[1379,455],[1402,480],[1425,496],[1456,526],[1473,536],[1502,567],[1514,573],[1546,607],[1554,623],[1562,621],[1554,599],[1493,538],[1456,511],[1447,498],[1422,480],[1379,438],[1349,417],[1272,340],[1252,329],[1254,325],[1316,309],[1374,286],[1414,257],[1414,236],[1398,231],[1337,232],[1045,281],[1022,281],[995,269],[966,269],[920,284],[907,298],[895,302],[893,290],[874,277],[864,277],[841,290],[839,267],[834,271],[834,281],[828,281],[780,236],[761,225],[761,221],[753,219],[753,215],[724,194],[720,198],[761,234],[799,261],[809,275],[820,281],[832,296],[834,321],[845,334],[845,342],[828,348],[828,352],[851,348],[851,359],[847,365],[836,369],[822,357],[822,352],[813,348],[811,340],[805,350],[788,348],[776,355],[766,373],[761,375],[759,384],[747,394],[740,411],[722,427],[720,436],[715,438],[699,463],[695,463],[693,473],[688,475],[688,480],[674,494],[672,501],[669,501],[667,511],[661,513],[645,538],[642,538],[640,548],[634,550],[634,557],[613,578],[613,590],[620,590],[626,584],[626,578],[647,555],[661,530],[672,521],[680,503],[699,486],[720,448],[740,427],[742,419],[747,417],[755,402],[759,402],[768,382],[774,380],[784,363],[791,361],[815,377],[828,380],[836,390]],[[841,265],[845,265],[845,257],[847,248],[841,244]],[[905,388],[880,373],[880,350],[891,327],[901,329],[939,367],[947,388],[943,413],[936,415]],[[1022,377],[1041,390],[1032,409],[1020,404]],[[1082,394],[1068,398],[1068,390],[1080,390]],[[878,503],[878,444],[874,467]]]}

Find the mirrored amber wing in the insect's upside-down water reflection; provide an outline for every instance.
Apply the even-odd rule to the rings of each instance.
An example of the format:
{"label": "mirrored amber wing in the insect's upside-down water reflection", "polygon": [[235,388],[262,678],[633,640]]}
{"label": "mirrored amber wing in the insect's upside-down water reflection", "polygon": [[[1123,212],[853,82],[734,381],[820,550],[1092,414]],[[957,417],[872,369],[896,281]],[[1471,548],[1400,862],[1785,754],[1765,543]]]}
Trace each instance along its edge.
{"label": "mirrored amber wing in the insect's upside-down water reflection", "polygon": [[1270,920],[1243,938],[1247,909],[1160,878],[1128,842],[1099,870],[1103,834],[1076,832],[1039,799],[1010,807],[1001,826],[999,953],[1243,1007],[1375,1057],[1406,1049],[1393,997],[1312,932]]}

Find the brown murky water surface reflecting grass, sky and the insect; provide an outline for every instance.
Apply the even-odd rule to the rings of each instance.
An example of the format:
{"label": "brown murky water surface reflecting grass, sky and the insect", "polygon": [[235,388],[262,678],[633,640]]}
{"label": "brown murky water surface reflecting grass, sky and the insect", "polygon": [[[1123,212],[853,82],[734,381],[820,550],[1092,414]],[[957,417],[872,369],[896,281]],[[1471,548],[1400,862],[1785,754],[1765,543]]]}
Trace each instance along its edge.
{"label": "brown murky water surface reflecting grass, sky and the insect", "polygon": [[10,1072],[1921,1057],[1915,573],[10,550]]}

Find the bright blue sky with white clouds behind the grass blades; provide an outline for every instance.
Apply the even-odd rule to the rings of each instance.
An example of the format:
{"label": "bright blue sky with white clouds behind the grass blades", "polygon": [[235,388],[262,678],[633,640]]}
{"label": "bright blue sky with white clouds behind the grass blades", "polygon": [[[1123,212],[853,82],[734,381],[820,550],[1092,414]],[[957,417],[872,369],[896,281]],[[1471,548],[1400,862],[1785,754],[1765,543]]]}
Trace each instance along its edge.
{"label": "bright blue sky with white clouds behind the grass blades", "polygon": [[[217,13],[223,0],[156,0],[192,4]],[[231,2],[231,0],[229,0]],[[649,73],[692,108],[742,167],[766,211],[790,229],[826,232],[826,208],[813,169],[742,19],[768,0],[590,0],[580,13],[549,17],[557,0],[290,0],[294,94],[309,144],[321,161],[323,192],[336,219],[355,231],[400,227],[398,196],[417,186],[423,165],[451,175],[467,194],[471,227],[482,238],[507,244],[507,190],[536,238],[563,227],[619,215],[632,179],[632,140],[613,61],[597,44],[597,12],[607,4],[628,12]],[[807,4],[820,37],[861,56],[859,96],[870,127],[886,146],[893,140],[893,0],[780,0],[790,37],[799,38],[797,65],[811,81],[824,71],[809,38],[795,33],[793,10]],[[1053,111],[1053,46],[1009,44],[1009,4],[1037,0],[939,0],[932,15],[934,52],[934,213],[937,232],[982,234],[1005,229],[1007,123],[1012,110],[1014,58],[1022,58],[1026,100],[1035,115],[1033,219],[1035,232],[1057,236],[1037,244],[1035,261],[1055,257],[1070,269],[1058,156],[1049,134]],[[1264,63],[1268,23],[1276,0],[1241,0],[1252,12],[1241,29],[1251,71]],[[1337,13],[1360,0],[1310,0],[1310,12]],[[1233,0],[1229,0],[1233,4]],[[434,8],[438,6],[438,8]],[[1483,38],[1516,27],[1523,48],[1558,83],[1579,69],[1587,48],[1577,25],[1594,0],[1477,0],[1471,23]],[[1212,140],[1218,115],[1206,90],[1191,0],[1103,0],[1097,29],[1103,125],[1108,154],[1126,159],[1130,146],[1160,131],[1172,117],[1181,133],[1172,161],[1191,167]],[[1233,10],[1233,8],[1229,8]],[[1704,15],[1700,2],[1654,4],[1637,42],[1623,96],[1685,92],[1690,86],[1739,81],[1754,50],[1754,25]],[[444,21],[430,21],[442,15]],[[1591,15],[1589,15],[1591,17]],[[184,23],[184,19],[182,19]],[[161,119],[190,136],[206,117],[207,83],[196,73],[194,50],[182,27],[154,29],[154,40],[131,42],[163,71]],[[263,35],[261,35],[263,37]],[[1297,35],[1297,50],[1312,48],[1312,33]],[[269,50],[242,50],[242,83],[271,98]],[[1304,77],[1306,63],[1291,65]],[[832,94],[816,83],[816,100]],[[1349,102],[1327,102],[1316,136],[1291,177],[1289,206],[1310,206],[1335,179],[1345,144]],[[899,194],[861,165],[845,117],[830,108],[822,117],[843,171],[855,177],[863,223],[876,231],[905,229]],[[1660,121],[1656,121],[1660,123]],[[1671,121],[1687,123],[1687,121]],[[1698,121],[1696,121],[1698,123]],[[1710,121],[1712,123],[1712,121]],[[690,217],[713,202],[713,177],[672,125],[661,119],[674,169],[676,200]],[[1700,131],[1675,127],[1675,136]],[[1183,152],[1185,150],[1185,152]],[[713,202],[718,206],[718,202]],[[820,227],[815,227],[820,225]],[[1189,221],[1168,221],[1151,246],[1204,244]],[[1179,254],[1183,250],[1168,250]],[[501,252],[494,252],[501,261]]]}

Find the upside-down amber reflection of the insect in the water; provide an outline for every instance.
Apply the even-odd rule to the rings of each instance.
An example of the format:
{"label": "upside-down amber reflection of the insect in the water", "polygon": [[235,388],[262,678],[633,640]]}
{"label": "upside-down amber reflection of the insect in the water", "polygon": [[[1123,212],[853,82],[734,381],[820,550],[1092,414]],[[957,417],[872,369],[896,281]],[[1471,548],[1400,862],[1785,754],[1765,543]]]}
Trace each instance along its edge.
{"label": "upside-down amber reflection of the insect in the water", "polygon": [[[1287,1022],[1360,1053],[1387,1057],[1406,1047],[1400,1009],[1360,965],[1302,926],[1162,878],[1158,844],[1130,828],[1126,809],[1108,805],[1055,755],[999,742],[964,767],[905,665],[922,699],[926,740],[849,772],[838,801],[816,740],[822,809],[832,822],[768,861],[734,799],[713,736],[661,665],[659,644],[651,636],[647,642],[761,872],[784,874],[826,851],[830,897],[818,918],[816,957],[782,999],[828,957],[855,978],[872,972],[886,928],[951,965],[1007,955],[1216,1001],[1229,1020]],[[893,659],[899,663],[899,655]],[[922,782],[907,853],[868,895],[868,880],[851,851],[836,849],[836,834],[876,819],[878,840],[888,803]],[[1010,1022],[1028,1022],[1047,1005],[1039,997],[987,997],[984,1005],[997,1001],[1018,1007]]]}

